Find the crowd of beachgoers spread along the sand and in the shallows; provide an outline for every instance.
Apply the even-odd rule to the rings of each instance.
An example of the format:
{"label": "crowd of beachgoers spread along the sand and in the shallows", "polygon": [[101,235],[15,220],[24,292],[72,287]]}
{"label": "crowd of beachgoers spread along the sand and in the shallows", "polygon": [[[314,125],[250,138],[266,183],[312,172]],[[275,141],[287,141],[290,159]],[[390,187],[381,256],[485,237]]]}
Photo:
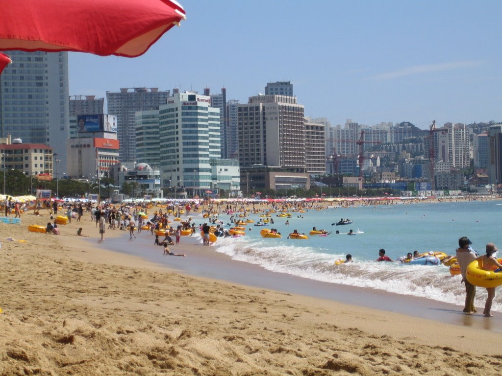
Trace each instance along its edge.
{"label": "crowd of beachgoers spread along the sand and in the shallows", "polygon": [[[3,208],[5,210],[6,217],[14,213],[15,217],[21,217],[21,213],[28,209],[27,204],[21,202],[16,202],[12,197],[6,197],[6,200],[2,202]],[[203,202],[201,204],[197,202],[187,203],[186,206],[182,207],[180,205],[165,206],[164,208],[157,208],[148,206],[146,204],[138,205],[118,205],[114,206],[111,204],[96,205],[93,203],[58,203],[56,201],[42,201],[40,206],[35,209],[34,213],[38,214],[40,209],[48,209],[51,211],[51,221],[47,222],[46,233],[47,234],[60,234],[60,228],[54,217],[58,215],[58,212],[67,217],[68,222],[71,223],[72,220],[79,222],[81,221],[84,213],[88,213],[90,216],[90,221],[95,222],[96,228],[98,228],[98,233],[100,235],[100,240],[104,239],[104,234],[106,230],[121,230],[128,231],[130,239],[136,239],[137,233],[141,233],[142,230],[148,228],[148,231],[153,235],[155,231],[165,229],[164,238],[161,240],[159,235],[155,235],[154,245],[161,246],[164,248],[164,255],[172,256],[185,256],[184,254],[175,254],[170,251],[169,246],[175,246],[180,243],[181,232],[190,231],[190,235],[193,235],[197,230],[202,232],[202,239],[204,245],[211,245],[209,239],[210,234],[214,234],[216,237],[230,237],[228,230],[224,229],[223,222],[218,219],[217,213],[225,213],[231,215],[230,220],[237,221],[238,218],[236,213],[261,213],[263,212],[263,207],[270,208],[272,210],[287,211],[287,210],[303,210],[308,212],[309,210],[318,209],[322,207],[322,203],[308,203],[308,202],[274,202],[263,204],[257,207],[255,204],[249,203],[227,203],[226,205],[221,202]],[[350,205],[350,204],[347,204]],[[364,205],[376,205],[368,201]],[[148,216],[146,213],[149,209],[154,209],[155,213]],[[182,210],[185,210],[187,220],[181,221],[180,215]],[[190,211],[198,212],[202,210],[202,213],[211,214],[212,217],[208,219],[208,222],[202,225],[196,226],[191,217],[189,217]],[[170,214],[168,214],[168,211]],[[170,217],[171,215],[171,217]],[[177,226],[169,226],[170,220],[173,216],[180,221]],[[240,216],[239,216],[240,217]],[[230,221],[230,222],[231,222]],[[260,220],[262,221],[262,220]],[[273,220],[271,220],[273,223]],[[346,220],[348,221],[348,220]],[[216,229],[211,228],[214,225]],[[137,233],[136,233],[137,229]],[[313,232],[321,233],[321,235],[329,234],[326,230],[317,230],[316,227],[312,228]],[[276,229],[271,230],[272,233],[277,232]],[[336,231],[339,234],[339,231]],[[77,230],[78,236],[88,237],[88,235],[83,234],[83,230],[80,227]],[[185,234],[184,234],[185,235]],[[347,235],[355,235],[352,230],[347,232]],[[298,230],[293,230],[288,236],[298,237],[305,236],[305,234],[298,232]],[[461,283],[465,286],[465,305],[463,312],[465,313],[475,313],[477,309],[474,306],[474,297],[476,293],[476,287],[472,285],[466,278],[467,265],[470,262],[477,260],[479,263],[479,268],[483,270],[493,271],[496,269],[502,270],[502,264],[500,264],[495,258],[495,254],[498,251],[497,247],[493,243],[486,244],[485,254],[479,256],[470,245],[472,242],[467,237],[462,237],[458,241],[458,249],[456,250],[456,256],[448,256],[448,258],[441,260],[445,262],[452,257],[456,257],[458,264],[460,266],[460,273],[462,276]],[[433,256],[433,255],[430,255]],[[413,254],[410,252],[406,257],[398,259],[398,261],[409,262],[412,260],[418,260],[424,257],[428,257],[426,254],[419,254],[415,251]],[[386,255],[385,249],[379,250],[379,257],[376,259],[377,262],[393,262],[393,260]],[[353,262],[351,254],[347,254],[344,263]],[[487,317],[491,316],[491,304],[495,296],[495,287],[487,287],[487,298],[483,310],[483,314]]]}

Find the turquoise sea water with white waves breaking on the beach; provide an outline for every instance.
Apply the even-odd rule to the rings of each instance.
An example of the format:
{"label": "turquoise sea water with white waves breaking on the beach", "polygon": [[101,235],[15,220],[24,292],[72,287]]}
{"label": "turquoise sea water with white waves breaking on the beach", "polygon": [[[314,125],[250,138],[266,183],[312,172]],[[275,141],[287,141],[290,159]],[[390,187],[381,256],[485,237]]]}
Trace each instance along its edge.
{"label": "turquoise sea water with white waves breaking on the beach", "polygon": [[[461,277],[450,276],[448,267],[375,262],[379,250],[384,248],[393,260],[415,250],[454,255],[462,236],[469,237],[480,254],[484,253],[486,243],[502,246],[499,221],[502,201],[356,206],[291,214],[293,217],[289,219],[272,214],[274,224],[267,227],[247,224],[245,236],[219,238],[215,250],[271,271],[463,305],[465,288],[460,284]],[[229,215],[219,216],[225,224],[229,218]],[[341,218],[348,218],[353,224],[332,226]],[[252,214],[248,219],[256,223],[260,217]],[[287,239],[294,229],[308,235],[313,226],[332,233],[325,237],[309,236],[308,240]],[[283,238],[262,238],[260,230],[271,227],[278,229]],[[347,236],[350,229],[357,235]],[[335,235],[336,230],[340,234]],[[335,260],[345,259],[348,253],[353,263],[334,265]],[[486,290],[478,288],[479,307],[484,305],[485,298]],[[492,310],[502,312],[499,292]]]}

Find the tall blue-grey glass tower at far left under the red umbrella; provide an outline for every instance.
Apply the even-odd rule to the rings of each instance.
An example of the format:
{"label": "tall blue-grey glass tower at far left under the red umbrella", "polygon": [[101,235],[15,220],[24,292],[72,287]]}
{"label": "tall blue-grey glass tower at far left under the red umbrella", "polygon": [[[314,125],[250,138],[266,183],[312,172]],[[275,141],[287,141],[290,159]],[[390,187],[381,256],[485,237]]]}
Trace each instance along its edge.
{"label": "tall blue-grey glass tower at far left under the red umbrella", "polygon": [[66,170],[68,53],[9,51],[0,82],[0,137],[52,146]]}

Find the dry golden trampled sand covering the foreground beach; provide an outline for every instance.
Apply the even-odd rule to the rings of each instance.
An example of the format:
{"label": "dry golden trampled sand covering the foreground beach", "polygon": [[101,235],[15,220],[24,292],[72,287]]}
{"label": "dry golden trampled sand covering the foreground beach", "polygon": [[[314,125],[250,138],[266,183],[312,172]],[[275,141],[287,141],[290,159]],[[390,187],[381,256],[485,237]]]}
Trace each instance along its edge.
{"label": "dry golden trampled sand covering the foreground beach", "polygon": [[502,374],[498,332],[189,276],[105,250],[129,234],[88,214],[28,232],[41,214],[0,225],[2,375]]}

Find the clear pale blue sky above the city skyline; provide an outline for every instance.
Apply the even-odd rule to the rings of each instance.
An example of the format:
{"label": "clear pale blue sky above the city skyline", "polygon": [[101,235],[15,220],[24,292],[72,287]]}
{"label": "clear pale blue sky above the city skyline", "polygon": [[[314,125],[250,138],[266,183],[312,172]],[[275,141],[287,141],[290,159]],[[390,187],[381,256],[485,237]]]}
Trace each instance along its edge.
{"label": "clear pale blue sky above the city skyline", "polygon": [[143,56],[70,53],[70,95],[209,87],[246,103],[291,81],[305,115],[365,125],[502,121],[502,2],[179,0]]}

